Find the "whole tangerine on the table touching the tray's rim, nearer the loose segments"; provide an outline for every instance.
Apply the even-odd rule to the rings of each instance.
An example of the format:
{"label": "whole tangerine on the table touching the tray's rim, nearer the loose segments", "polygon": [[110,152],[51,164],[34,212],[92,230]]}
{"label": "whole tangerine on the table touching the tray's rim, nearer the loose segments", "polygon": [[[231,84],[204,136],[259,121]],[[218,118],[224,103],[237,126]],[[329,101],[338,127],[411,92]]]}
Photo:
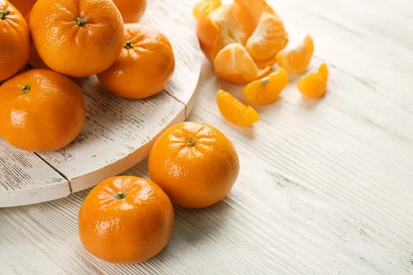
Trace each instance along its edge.
{"label": "whole tangerine on the table touching the tray's rim, nearer the loose segments", "polygon": [[184,122],[163,133],[149,154],[149,175],[177,206],[202,208],[224,199],[240,161],[231,141],[213,126]]}

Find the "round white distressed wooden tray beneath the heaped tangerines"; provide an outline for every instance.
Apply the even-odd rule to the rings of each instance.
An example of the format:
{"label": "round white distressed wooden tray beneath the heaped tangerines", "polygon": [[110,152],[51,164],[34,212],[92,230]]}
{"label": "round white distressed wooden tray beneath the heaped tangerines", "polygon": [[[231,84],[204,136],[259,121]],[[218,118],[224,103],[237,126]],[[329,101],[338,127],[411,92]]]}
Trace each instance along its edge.
{"label": "round white distressed wooden tray beneath the heaped tangerines", "polygon": [[[85,98],[81,135],[52,153],[30,153],[0,139],[0,208],[66,197],[118,175],[149,155],[156,138],[187,118],[200,76],[200,46],[184,1],[149,1],[142,23],[164,32],[176,69],[162,93],[126,100],[104,91],[96,78],[78,78]],[[173,11],[173,12],[171,12]]]}

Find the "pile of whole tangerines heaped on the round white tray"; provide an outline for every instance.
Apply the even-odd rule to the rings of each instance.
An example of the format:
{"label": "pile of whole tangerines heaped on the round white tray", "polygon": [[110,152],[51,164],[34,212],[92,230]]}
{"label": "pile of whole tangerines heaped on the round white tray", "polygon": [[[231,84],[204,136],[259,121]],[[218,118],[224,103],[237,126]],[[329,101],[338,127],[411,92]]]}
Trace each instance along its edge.
{"label": "pile of whole tangerines heaped on the round white tray", "polygon": [[72,142],[85,106],[67,76],[96,74],[124,98],[162,91],[175,58],[162,32],[137,23],[145,9],[146,0],[0,0],[0,137],[34,152]]}

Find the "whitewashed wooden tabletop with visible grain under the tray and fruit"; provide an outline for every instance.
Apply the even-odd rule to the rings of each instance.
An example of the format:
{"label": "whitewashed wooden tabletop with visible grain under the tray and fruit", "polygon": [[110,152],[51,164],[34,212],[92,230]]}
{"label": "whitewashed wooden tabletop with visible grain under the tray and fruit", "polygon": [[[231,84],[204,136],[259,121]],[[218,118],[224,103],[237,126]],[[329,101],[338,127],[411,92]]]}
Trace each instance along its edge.
{"label": "whitewashed wooden tabletop with visible grain under the tray and fruit", "polygon": [[[176,208],[167,248],[140,265],[85,252],[77,213],[89,190],[0,209],[1,275],[413,274],[413,2],[270,2],[292,43],[313,36],[310,71],[330,67],[326,98],[301,98],[293,78],[278,102],[257,108],[260,122],[238,128],[215,95],[240,87],[204,60],[189,120],[235,144],[241,172],[229,196]],[[149,177],[147,162],[125,175]]]}

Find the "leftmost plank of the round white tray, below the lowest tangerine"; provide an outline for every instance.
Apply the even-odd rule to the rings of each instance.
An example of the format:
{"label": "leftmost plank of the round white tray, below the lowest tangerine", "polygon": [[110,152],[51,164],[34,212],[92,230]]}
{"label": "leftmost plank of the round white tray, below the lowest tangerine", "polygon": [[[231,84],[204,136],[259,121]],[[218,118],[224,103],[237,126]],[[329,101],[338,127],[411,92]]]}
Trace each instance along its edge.
{"label": "leftmost plank of the round white tray, below the lowest tangerine", "polygon": [[0,139],[0,208],[60,199],[70,184],[34,153]]}

